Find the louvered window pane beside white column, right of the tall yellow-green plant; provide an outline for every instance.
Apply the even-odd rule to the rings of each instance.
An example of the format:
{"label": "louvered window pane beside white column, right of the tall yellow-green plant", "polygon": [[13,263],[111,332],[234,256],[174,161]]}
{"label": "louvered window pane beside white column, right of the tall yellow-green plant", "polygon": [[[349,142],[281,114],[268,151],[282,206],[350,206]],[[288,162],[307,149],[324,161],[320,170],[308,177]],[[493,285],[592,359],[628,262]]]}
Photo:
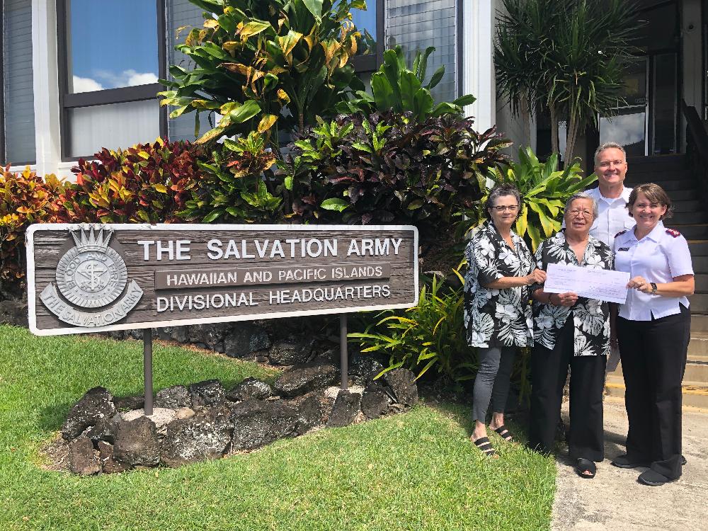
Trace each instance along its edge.
{"label": "louvered window pane beside white column, right of the tall yellow-green plant", "polygon": [[457,13],[455,0],[389,0],[386,2],[386,47],[401,45],[406,62],[416,52],[435,46],[428,57],[426,83],[440,66],[445,76],[432,90],[435,101],[457,98]]}

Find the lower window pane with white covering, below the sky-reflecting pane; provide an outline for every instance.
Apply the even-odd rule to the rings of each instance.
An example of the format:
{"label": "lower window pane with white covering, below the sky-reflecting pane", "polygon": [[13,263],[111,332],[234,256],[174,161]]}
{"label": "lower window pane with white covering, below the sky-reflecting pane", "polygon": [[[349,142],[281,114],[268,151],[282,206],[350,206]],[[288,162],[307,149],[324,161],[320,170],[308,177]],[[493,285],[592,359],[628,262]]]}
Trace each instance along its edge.
{"label": "lower window pane with white covering, below the sky-reflecting pane", "polygon": [[91,156],[101,148],[125,149],[160,136],[157,100],[112,103],[67,110],[68,156]]}

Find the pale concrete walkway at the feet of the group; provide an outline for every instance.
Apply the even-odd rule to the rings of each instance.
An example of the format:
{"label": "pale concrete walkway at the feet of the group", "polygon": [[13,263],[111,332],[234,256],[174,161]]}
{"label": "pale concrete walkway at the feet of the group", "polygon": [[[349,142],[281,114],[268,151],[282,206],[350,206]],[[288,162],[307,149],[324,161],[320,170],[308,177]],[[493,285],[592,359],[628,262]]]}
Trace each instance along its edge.
{"label": "pale concrete walkway at the feet of the group", "polygon": [[[564,404],[567,421],[568,404]],[[708,529],[708,412],[683,413],[683,476],[661,487],[639,484],[644,468],[619,469],[610,461],[624,453],[624,401],[605,399],[605,462],[595,479],[582,479],[570,459],[556,462],[554,531],[644,531]]]}

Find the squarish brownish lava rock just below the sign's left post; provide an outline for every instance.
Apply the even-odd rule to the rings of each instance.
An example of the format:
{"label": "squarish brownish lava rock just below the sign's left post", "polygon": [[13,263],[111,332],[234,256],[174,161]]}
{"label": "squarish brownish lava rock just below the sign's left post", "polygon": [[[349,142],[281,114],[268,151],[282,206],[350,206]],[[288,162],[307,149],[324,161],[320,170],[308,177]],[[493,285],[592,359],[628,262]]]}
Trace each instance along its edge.
{"label": "squarish brownish lava rock just below the sign's left post", "polygon": [[133,467],[154,467],[160,462],[155,423],[145,416],[114,423],[113,457]]}

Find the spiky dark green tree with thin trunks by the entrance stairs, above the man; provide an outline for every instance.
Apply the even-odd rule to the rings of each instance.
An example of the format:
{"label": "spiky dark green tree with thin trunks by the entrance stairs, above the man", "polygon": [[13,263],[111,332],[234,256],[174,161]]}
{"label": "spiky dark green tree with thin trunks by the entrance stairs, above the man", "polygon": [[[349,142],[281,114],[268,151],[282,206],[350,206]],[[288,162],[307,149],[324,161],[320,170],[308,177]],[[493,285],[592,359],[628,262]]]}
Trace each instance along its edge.
{"label": "spiky dark green tree with thin trunks by the entrance stairs, above the man", "polygon": [[[552,152],[566,121],[564,161],[578,132],[612,116],[622,102],[624,72],[634,60],[638,21],[628,0],[503,0],[494,50],[496,79],[512,110],[525,119],[549,110]],[[526,122],[528,125],[528,122]]]}

